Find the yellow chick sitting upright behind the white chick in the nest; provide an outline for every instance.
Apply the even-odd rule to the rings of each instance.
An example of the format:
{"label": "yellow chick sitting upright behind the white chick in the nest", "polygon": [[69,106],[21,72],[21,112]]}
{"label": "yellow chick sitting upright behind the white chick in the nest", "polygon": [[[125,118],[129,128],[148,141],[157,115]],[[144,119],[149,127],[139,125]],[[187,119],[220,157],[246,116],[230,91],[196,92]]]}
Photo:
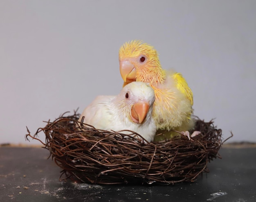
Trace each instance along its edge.
{"label": "yellow chick sitting upright behind the white chick in the nest", "polygon": [[162,69],[153,46],[140,40],[124,43],[119,49],[119,65],[124,86],[142,81],[150,83],[155,91],[153,119],[157,125],[156,134],[163,134],[155,137],[155,141],[179,135],[171,130],[182,132],[194,127],[191,89],[182,74]]}

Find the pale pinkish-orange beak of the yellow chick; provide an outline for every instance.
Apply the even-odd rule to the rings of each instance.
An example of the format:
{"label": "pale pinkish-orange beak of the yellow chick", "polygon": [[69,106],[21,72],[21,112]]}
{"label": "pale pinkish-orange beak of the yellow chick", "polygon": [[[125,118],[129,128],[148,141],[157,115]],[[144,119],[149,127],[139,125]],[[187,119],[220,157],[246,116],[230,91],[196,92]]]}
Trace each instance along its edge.
{"label": "pale pinkish-orange beak of the yellow chick", "polygon": [[127,82],[126,80],[135,81],[136,68],[134,67],[134,65],[132,65],[128,60],[120,61],[119,65],[120,65],[120,73],[124,82]]}

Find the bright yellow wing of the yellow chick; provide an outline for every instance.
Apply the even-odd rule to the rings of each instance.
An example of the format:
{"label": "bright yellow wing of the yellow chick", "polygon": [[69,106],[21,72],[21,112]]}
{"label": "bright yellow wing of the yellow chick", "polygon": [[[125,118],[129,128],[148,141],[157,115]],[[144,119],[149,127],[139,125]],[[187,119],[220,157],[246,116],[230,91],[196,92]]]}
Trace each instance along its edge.
{"label": "bright yellow wing of the yellow chick", "polygon": [[177,89],[186,95],[186,98],[190,101],[191,106],[193,105],[193,92],[189,88],[188,83],[180,73],[173,74],[173,79],[176,81]]}

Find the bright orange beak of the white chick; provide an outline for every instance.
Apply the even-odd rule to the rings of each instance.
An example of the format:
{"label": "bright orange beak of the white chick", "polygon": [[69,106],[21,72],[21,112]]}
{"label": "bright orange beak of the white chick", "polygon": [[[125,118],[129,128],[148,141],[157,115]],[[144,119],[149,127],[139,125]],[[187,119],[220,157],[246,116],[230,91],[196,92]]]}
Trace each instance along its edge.
{"label": "bright orange beak of the white chick", "polygon": [[146,118],[149,110],[149,103],[146,101],[138,101],[132,106],[131,119],[134,123],[142,123]]}

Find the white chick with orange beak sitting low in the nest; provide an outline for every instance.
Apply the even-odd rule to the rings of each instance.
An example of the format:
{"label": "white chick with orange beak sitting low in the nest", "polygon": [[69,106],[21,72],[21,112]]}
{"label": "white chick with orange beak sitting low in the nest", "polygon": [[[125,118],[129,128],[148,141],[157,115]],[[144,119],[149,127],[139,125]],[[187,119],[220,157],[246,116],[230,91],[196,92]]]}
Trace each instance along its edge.
{"label": "white chick with orange beak sitting low in the nest", "polygon": [[[132,82],[116,96],[97,96],[81,114],[78,121],[94,126],[99,130],[132,130],[148,142],[153,141],[156,132],[152,118],[155,93],[148,83]],[[122,131],[124,134],[132,134]],[[137,135],[139,140],[141,138]]]}

